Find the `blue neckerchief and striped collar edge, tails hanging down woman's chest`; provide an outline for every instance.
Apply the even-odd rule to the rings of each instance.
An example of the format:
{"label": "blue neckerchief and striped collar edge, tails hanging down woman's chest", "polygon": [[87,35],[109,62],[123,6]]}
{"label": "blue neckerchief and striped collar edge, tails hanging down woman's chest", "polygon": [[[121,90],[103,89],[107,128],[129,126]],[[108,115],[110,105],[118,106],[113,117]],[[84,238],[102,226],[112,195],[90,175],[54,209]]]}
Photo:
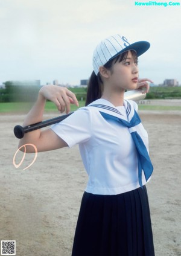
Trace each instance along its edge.
{"label": "blue neckerchief and striped collar edge, tails hanging down woman's chest", "polygon": [[[147,148],[145,147],[145,144],[142,141],[141,136],[139,136],[138,132],[136,132],[136,129],[135,129],[135,126],[141,123],[138,113],[135,111],[135,109],[133,109],[133,107],[130,105],[128,101],[127,101],[126,113],[128,117],[129,115],[132,116],[130,121],[126,121],[125,118],[122,116],[121,112],[119,112],[114,107],[106,106],[103,104],[92,104],[89,106],[101,108],[101,111],[99,112],[104,117],[104,119],[115,120],[118,123],[122,124],[122,126],[126,126],[129,128],[133,141],[135,142],[136,150],[137,150],[138,180],[139,180],[139,185],[141,185],[142,187],[142,171],[144,171],[145,179],[147,181],[150,178],[151,173],[153,172],[153,165],[151,164],[151,160],[150,160],[150,156],[148,155]],[[111,114],[108,114],[107,112]]]}

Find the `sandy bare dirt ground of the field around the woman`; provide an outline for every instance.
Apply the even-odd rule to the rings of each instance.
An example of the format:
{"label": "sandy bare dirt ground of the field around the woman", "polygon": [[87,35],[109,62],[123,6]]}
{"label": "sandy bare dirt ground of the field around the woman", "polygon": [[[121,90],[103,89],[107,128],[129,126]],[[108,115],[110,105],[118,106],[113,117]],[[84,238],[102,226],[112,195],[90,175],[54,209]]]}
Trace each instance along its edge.
{"label": "sandy bare dirt ground of the field around the woman", "polygon": [[[170,103],[171,102],[171,103]],[[160,101],[157,104],[163,104]],[[165,101],[164,104],[181,101]],[[151,103],[153,104],[153,103]],[[181,111],[140,112],[150,141],[154,173],[147,185],[156,256],[181,255]],[[45,118],[52,118],[46,115]],[[16,240],[18,256],[71,255],[87,174],[78,147],[26,155],[13,165],[13,127],[24,115],[0,115],[0,240]],[[17,153],[16,164],[22,154]]]}

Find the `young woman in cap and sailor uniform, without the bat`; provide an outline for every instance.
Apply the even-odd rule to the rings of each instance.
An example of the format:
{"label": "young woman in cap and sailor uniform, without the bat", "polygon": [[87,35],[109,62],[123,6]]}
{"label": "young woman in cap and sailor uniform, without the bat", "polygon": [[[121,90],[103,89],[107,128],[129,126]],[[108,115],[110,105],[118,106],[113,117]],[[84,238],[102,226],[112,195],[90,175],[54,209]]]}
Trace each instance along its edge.
{"label": "young woman in cap and sailor uniform, without the bat", "polygon": [[[153,235],[145,184],[153,166],[148,136],[135,102],[125,90],[149,89],[139,80],[138,56],[150,43],[129,43],[119,34],[104,39],[94,51],[86,107],[50,129],[26,133],[19,146],[34,144],[38,152],[79,144],[89,175],[83,194],[72,255],[153,256]],[[24,121],[42,121],[46,99],[60,112],[78,106],[75,95],[59,86],[43,86]],[[31,152],[31,147],[28,152]]]}

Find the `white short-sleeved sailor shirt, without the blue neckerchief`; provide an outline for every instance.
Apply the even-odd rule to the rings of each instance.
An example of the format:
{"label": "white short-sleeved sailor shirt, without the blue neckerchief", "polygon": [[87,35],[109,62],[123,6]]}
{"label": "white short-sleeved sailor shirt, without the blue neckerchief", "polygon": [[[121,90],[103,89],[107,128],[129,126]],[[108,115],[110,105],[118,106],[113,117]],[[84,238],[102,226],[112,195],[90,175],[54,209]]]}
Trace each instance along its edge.
{"label": "white short-sleeved sailor shirt, without the blue neckerchief", "polygon": [[[134,101],[127,101],[132,109],[138,110]],[[127,101],[121,107],[115,107],[104,99],[90,105],[114,107],[128,120],[131,113],[127,111]],[[51,129],[69,147],[79,144],[81,159],[89,176],[86,192],[112,195],[140,187],[136,147],[129,128],[116,121],[105,120],[98,107],[81,107],[62,122],[54,124]],[[142,124],[133,129],[141,136],[148,150],[148,134]],[[142,174],[142,185],[147,182]]]}

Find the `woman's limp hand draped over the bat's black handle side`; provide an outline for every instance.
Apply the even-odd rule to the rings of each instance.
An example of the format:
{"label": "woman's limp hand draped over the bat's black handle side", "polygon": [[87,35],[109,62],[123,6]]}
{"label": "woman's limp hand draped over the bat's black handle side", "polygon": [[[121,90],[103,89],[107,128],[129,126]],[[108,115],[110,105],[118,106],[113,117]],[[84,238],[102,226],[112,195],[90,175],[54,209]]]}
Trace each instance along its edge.
{"label": "woman's limp hand draped over the bat's black handle side", "polygon": [[39,96],[56,104],[61,113],[66,110],[66,114],[68,114],[71,110],[71,104],[75,104],[78,107],[78,100],[75,94],[65,87],[45,85],[40,89]]}

